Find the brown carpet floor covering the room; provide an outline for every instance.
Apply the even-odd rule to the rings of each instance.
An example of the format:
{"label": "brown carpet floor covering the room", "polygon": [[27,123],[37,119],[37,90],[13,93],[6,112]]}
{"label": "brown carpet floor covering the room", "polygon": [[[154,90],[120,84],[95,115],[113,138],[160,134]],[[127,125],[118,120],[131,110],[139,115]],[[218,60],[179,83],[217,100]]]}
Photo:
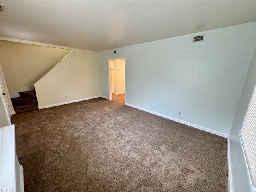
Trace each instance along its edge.
{"label": "brown carpet floor covering the room", "polygon": [[226,139],[124,95],[13,116],[25,192],[228,191]]}

